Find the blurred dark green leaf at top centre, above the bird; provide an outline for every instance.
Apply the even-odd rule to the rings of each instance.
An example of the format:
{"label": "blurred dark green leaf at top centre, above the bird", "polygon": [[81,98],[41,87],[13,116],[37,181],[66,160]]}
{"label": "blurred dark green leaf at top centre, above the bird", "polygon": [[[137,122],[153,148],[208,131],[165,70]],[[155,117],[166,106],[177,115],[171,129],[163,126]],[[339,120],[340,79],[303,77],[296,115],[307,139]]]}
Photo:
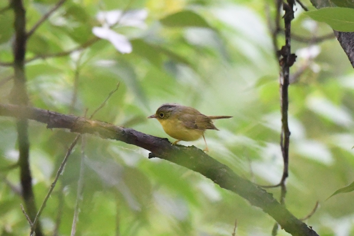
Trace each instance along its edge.
{"label": "blurred dark green leaf at top centre, above the bird", "polygon": [[161,19],[160,22],[168,27],[206,27],[210,25],[200,15],[193,11],[180,11]]}

